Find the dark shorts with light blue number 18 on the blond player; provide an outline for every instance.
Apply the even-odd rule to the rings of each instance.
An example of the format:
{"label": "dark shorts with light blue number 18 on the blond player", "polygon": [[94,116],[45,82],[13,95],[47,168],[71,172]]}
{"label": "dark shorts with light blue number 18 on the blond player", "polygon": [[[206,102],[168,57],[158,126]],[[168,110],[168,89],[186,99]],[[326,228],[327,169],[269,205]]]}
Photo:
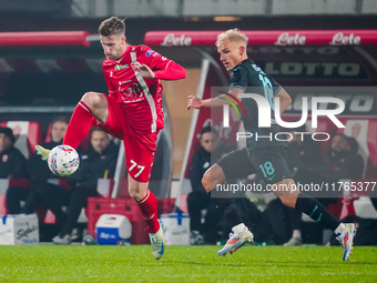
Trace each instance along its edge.
{"label": "dark shorts with light blue number 18 on the blond player", "polygon": [[253,150],[242,148],[222,158],[217,165],[223,169],[226,180],[257,173],[267,184],[275,184],[283,179],[292,179],[283,156],[284,151],[283,146]]}

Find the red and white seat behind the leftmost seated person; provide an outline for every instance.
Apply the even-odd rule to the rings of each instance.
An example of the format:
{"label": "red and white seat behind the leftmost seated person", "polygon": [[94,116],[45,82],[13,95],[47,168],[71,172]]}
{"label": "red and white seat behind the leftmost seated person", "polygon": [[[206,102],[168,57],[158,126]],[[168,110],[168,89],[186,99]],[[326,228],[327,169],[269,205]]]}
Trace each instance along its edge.
{"label": "red and white seat behind the leftmost seated person", "polygon": [[1,127],[8,127],[12,129],[16,143],[23,155],[28,159],[37,144],[42,141],[41,125],[35,121],[7,121],[1,122]]}

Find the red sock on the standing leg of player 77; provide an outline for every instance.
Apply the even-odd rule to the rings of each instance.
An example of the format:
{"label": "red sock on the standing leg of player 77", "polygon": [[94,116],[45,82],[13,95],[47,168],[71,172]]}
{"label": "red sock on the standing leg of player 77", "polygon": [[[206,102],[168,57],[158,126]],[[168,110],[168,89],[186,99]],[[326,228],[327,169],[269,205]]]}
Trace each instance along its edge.
{"label": "red sock on the standing leg of player 77", "polygon": [[156,233],[160,229],[160,222],[157,220],[157,199],[150,190],[147,190],[146,195],[139,201],[137,204],[146,221],[149,233]]}

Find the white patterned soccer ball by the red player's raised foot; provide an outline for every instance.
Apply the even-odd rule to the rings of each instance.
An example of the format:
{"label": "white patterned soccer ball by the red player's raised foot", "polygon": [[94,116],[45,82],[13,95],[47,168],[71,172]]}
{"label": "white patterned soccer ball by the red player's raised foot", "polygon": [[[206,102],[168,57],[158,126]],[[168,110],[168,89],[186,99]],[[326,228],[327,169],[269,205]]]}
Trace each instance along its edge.
{"label": "white patterned soccer ball by the red player's raised foot", "polygon": [[55,175],[68,176],[78,170],[80,158],[70,145],[58,145],[50,151],[48,164]]}

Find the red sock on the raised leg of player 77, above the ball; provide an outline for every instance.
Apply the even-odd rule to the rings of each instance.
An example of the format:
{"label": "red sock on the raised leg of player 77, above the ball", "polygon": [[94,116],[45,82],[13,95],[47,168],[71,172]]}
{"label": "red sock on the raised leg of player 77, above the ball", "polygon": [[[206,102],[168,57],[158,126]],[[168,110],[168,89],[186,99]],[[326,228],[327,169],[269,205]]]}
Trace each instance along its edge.
{"label": "red sock on the raised leg of player 77, above the ball", "polygon": [[67,128],[63,144],[71,145],[73,149],[77,149],[80,142],[89,133],[92,121],[92,111],[83,101],[80,100]]}

